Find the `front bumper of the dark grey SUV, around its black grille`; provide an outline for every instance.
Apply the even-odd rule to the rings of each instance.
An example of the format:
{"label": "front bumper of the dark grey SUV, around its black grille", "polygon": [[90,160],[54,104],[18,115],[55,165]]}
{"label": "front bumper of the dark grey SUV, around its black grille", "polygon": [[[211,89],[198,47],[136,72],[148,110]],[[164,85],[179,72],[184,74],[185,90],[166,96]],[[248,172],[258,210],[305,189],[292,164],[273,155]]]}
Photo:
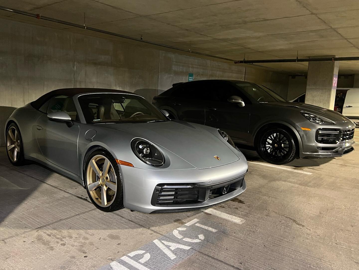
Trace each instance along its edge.
{"label": "front bumper of the dark grey SUV, around its black grille", "polygon": [[[299,132],[302,140],[302,152],[300,153],[301,158],[332,158],[341,157],[342,155],[348,154],[354,150],[353,145],[355,144],[354,138],[348,140],[339,141],[336,144],[324,144],[316,141],[316,131],[318,129],[336,129],[346,131],[354,129],[355,125],[351,121],[337,122],[334,125],[321,125],[310,123],[309,121],[298,124],[297,131]],[[301,130],[300,127],[309,127],[311,131]]]}

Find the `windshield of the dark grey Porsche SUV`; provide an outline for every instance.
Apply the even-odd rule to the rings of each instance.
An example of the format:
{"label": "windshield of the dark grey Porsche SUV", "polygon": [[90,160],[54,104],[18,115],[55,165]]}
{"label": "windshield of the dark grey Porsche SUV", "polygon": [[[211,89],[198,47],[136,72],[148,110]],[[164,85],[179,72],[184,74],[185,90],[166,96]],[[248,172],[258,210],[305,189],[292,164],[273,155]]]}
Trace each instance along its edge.
{"label": "windshield of the dark grey Porsche SUV", "polygon": [[244,93],[257,102],[287,102],[284,98],[274,93],[272,90],[253,83],[236,83]]}

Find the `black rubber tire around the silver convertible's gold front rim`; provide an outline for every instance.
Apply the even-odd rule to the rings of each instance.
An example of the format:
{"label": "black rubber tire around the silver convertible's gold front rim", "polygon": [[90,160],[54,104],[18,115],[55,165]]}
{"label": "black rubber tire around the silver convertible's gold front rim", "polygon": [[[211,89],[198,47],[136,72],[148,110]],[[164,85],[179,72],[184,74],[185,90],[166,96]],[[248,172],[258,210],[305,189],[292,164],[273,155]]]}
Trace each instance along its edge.
{"label": "black rubber tire around the silver convertible's gold front rim", "polygon": [[[88,171],[87,171],[88,166],[89,166],[90,161],[98,155],[102,155],[103,157],[105,157],[109,160],[109,162],[111,163],[111,166],[113,168],[113,171],[116,174],[116,193],[114,195],[115,197],[111,200],[111,204],[109,206],[105,206],[105,207],[100,206],[97,202],[94,201],[93,195],[89,191],[89,187],[88,187]],[[102,169],[101,164],[99,164],[98,168],[100,170]],[[120,210],[123,208],[123,187],[122,187],[121,173],[120,173],[120,170],[116,163],[116,160],[112,157],[112,155],[106,149],[97,149],[97,150],[94,150],[93,152],[91,152],[90,154],[87,154],[87,159],[86,159],[86,163],[84,166],[84,183],[85,183],[87,194],[89,195],[90,200],[101,211],[113,212],[113,211],[117,211],[117,210]],[[105,186],[106,186],[106,183],[105,183]],[[109,195],[106,193],[106,196],[109,196]]]}

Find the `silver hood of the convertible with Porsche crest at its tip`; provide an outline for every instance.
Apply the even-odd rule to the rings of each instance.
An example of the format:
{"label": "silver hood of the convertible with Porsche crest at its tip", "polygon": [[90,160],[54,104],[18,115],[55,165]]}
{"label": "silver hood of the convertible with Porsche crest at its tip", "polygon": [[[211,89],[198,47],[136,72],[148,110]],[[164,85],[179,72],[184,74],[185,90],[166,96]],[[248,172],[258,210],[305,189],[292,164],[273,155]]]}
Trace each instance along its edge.
{"label": "silver hood of the convertible with Porsche crest at its tip", "polygon": [[198,124],[167,121],[106,124],[106,127],[131,134],[133,138],[146,139],[198,169],[221,166],[239,159],[234,153],[237,150],[232,150],[233,147],[216,134],[216,129]]}

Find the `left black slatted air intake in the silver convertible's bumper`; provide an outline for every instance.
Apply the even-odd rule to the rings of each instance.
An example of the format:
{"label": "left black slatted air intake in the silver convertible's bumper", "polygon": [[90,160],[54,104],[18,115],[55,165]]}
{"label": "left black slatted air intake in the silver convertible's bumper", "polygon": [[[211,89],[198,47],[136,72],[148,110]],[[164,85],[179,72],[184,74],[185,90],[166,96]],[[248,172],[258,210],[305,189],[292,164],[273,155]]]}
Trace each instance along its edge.
{"label": "left black slatted air intake in the silver convertible's bumper", "polygon": [[195,204],[199,201],[199,188],[191,185],[160,187],[156,205]]}

